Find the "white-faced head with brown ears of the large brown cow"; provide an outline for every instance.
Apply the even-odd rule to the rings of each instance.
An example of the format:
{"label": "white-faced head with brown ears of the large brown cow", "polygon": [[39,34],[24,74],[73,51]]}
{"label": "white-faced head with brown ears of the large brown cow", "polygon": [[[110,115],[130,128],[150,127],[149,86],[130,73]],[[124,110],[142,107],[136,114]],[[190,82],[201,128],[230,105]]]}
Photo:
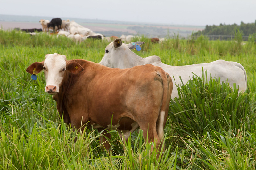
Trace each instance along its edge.
{"label": "white-faced head with brown ears of the large brown cow", "polygon": [[47,54],[42,62],[32,63],[26,71],[30,74],[37,74],[44,70],[45,72],[45,92],[56,94],[59,92],[59,86],[63,80],[65,71],[72,74],[78,74],[84,68],[76,62],[68,62],[66,55],[57,53]]}

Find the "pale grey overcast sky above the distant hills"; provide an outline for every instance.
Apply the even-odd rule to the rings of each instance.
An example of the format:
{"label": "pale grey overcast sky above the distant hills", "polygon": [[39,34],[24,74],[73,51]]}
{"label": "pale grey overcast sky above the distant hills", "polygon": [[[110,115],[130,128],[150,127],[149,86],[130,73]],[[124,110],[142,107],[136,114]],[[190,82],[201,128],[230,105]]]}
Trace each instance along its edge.
{"label": "pale grey overcast sky above the distant hills", "polygon": [[254,23],[256,0],[1,0],[0,14],[168,25]]}

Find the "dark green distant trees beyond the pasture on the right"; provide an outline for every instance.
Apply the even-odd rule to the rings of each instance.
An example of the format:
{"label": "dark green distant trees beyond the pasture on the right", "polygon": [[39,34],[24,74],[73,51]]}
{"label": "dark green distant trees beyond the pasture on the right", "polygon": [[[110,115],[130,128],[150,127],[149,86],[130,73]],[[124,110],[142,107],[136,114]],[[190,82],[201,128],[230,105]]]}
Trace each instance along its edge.
{"label": "dark green distant trees beyond the pasture on the right", "polygon": [[219,26],[206,25],[204,30],[192,33],[192,35],[234,35],[237,30],[242,32],[244,36],[250,36],[256,33],[256,20],[254,23],[248,24],[241,22],[240,25],[237,25],[235,23],[232,25],[220,24]]}

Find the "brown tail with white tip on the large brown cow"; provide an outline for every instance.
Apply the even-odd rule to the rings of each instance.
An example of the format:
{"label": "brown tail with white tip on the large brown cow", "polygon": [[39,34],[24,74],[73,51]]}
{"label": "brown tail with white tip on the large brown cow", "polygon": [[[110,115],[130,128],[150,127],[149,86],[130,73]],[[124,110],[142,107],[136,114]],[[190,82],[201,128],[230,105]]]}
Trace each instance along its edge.
{"label": "brown tail with white tip on the large brown cow", "polygon": [[161,77],[163,85],[163,99],[157,123],[158,137],[160,138],[160,140],[162,140],[164,136],[164,126],[167,120],[169,102],[173,85],[171,83],[171,77],[169,76],[169,74],[165,73],[164,70],[158,71],[157,73]]}

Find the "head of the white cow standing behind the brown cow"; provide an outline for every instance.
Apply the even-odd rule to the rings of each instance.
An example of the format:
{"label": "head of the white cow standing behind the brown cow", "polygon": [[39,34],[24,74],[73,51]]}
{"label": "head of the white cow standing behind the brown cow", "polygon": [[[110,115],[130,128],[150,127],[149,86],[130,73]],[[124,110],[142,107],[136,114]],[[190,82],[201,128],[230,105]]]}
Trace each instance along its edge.
{"label": "head of the white cow standing behind the brown cow", "polygon": [[99,64],[111,68],[129,68],[129,62],[135,58],[136,55],[130,49],[135,49],[136,45],[142,45],[144,42],[131,42],[129,44],[122,43],[121,39],[115,39],[105,48],[105,55]]}

